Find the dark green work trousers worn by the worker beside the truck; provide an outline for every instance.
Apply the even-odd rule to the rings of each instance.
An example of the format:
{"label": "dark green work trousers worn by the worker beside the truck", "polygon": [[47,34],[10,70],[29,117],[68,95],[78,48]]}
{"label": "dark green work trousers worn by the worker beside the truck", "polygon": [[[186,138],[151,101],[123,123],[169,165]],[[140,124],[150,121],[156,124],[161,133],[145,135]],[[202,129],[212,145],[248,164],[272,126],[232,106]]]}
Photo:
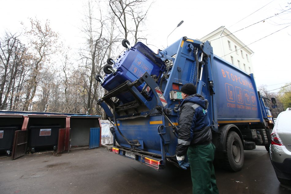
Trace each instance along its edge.
{"label": "dark green work trousers worn by the worker beside the truck", "polygon": [[189,146],[187,156],[191,169],[193,194],[218,194],[213,166],[214,153],[213,143]]}

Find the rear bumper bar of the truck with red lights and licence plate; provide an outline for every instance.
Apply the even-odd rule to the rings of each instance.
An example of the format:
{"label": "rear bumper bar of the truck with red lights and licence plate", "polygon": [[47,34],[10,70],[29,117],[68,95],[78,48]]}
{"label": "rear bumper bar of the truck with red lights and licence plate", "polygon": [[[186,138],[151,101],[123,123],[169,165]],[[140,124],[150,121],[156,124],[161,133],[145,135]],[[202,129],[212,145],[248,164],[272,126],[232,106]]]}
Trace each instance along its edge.
{"label": "rear bumper bar of the truck with red lights and licence plate", "polygon": [[[161,158],[158,158],[158,155],[155,154],[155,157],[149,154],[142,154],[140,152],[127,150],[122,147],[111,147],[108,149],[109,151],[119,154],[123,157],[130,158],[132,160],[136,160],[138,162],[141,162],[142,164],[145,164],[149,167],[152,167],[153,169],[159,170],[164,169],[165,165],[163,164],[163,160]],[[153,153],[152,153],[153,154]]]}

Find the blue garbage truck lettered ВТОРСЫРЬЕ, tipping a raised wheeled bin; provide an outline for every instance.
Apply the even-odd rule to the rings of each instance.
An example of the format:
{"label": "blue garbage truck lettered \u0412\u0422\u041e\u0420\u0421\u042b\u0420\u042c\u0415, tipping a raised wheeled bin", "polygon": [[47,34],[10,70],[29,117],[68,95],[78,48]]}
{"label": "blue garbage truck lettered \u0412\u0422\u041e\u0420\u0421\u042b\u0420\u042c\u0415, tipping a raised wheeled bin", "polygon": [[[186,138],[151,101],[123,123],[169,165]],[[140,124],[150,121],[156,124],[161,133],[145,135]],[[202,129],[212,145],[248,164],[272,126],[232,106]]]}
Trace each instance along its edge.
{"label": "blue garbage truck lettered \u0412\u0422\u041e\u0420\u0421\u042b\u0420\u042c\u0415, tipping a raised wheeled bin", "polygon": [[123,54],[107,60],[104,78],[95,77],[108,91],[98,105],[114,124],[112,152],[157,170],[178,165],[177,113],[186,83],[208,100],[217,164],[239,171],[244,150],[269,150],[274,120],[268,104],[275,107],[276,100],[260,95],[254,75],[214,55],[208,41],[185,36],[157,53],[141,42],[122,45]]}

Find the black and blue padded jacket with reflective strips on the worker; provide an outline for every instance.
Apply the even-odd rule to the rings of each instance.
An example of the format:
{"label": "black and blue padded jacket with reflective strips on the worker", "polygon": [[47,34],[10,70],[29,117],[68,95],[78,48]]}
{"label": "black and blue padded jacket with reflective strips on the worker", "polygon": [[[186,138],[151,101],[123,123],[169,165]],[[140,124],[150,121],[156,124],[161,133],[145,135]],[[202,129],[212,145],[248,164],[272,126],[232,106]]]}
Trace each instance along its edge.
{"label": "black and blue padded jacket with reflective strips on the worker", "polygon": [[177,156],[185,155],[189,145],[211,143],[212,133],[206,104],[207,100],[199,94],[188,96],[181,102]]}

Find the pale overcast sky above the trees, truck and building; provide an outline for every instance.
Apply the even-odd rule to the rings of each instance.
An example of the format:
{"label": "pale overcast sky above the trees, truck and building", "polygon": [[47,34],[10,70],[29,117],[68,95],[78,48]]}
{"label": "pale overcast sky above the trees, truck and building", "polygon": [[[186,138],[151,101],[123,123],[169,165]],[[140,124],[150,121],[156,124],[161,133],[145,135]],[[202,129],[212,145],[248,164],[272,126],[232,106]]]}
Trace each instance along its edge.
{"label": "pale overcast sky above the trees, truck and building", "polygon": [[[21,27],[20,21],[28,24],[29,17],[37,17],[39,20],[49,19],[52,29],[59,32],[71,47],[77,48],[82,41],[79,28],[84,13],[82,6],[86,2],[87,0],[1,0],[1,6],[5,9],[0,12],[0,33],[7,29],[18,31]],[[269,2],[271,3],[261,10],[240,21]],[[147,35],[147,43],[154,45],[150,48],[157,51],[158,48],[166,47],[167,36],[181,20],[184,23],[169,36],[169,44],[182,36],[192,39],[202,38],[223,25],[230,32],[235,32],[282,12],[288,2],[291,1],[156,0],[149,10],[144,34]],[[287,25],[275,25],[275,23],[291,23],[290,19],[291,13],[288,12],[236,32],[234,35],[248,45],[284,28]],[[235,24],[238,21],[240,22]],[[291,26],[248,46],[255,52],[251,59],[257,86],[265,84],[268,90],[272,90],[280,88],[285,82],[291,82],[290,43]]]}

